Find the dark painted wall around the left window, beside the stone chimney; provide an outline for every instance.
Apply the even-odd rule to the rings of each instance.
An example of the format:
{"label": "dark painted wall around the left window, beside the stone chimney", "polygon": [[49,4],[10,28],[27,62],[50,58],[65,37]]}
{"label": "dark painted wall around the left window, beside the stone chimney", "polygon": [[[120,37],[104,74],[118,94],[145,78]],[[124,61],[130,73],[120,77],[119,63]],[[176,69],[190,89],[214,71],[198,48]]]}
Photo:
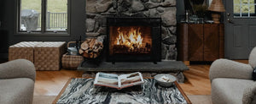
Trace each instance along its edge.
{"label": "dark painted wall around the left window, beside the stone chimney", "polygon": [[7,33],[0,34],[0,41],[8,40],[6,44],[0,44],[0,58],[6,58],[8,47],[20,41],[75,41],[82,36],[85,38],[85,0],[70,0],[71,24],[70,36],[17,36],[15,35],[16,0],[0,0],[0,30]]}

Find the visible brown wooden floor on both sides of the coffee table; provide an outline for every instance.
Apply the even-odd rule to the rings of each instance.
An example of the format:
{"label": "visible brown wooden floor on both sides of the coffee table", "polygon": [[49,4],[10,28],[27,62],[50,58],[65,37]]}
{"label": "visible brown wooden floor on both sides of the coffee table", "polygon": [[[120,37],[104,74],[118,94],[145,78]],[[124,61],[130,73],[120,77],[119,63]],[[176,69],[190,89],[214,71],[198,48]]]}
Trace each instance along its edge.
{"label": "visible brown wooden floor on both sides of the coffee table", "polygon": [[[247,61],[239,61],[247,63]],[[211,95],[209,80],[210,64],[190,64],[183,74],[186,80],[180,84],[186,95]],[[34,96],[57,96],[67,80],[81,77],[82,71],[61,69],[61,71],[37,71]]]}

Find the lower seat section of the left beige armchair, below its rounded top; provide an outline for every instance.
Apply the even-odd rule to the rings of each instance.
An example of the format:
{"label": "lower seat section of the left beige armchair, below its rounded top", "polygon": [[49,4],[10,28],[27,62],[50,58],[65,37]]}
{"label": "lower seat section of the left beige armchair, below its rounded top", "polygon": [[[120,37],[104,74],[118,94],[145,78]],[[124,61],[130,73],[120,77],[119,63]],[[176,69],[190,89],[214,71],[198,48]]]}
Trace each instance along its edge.
{"label": "lower seat section of the left beige armchair, below its rounded top", "polygon": [[1,104],[32,104],[33,91],[32,79],[0,79]]}

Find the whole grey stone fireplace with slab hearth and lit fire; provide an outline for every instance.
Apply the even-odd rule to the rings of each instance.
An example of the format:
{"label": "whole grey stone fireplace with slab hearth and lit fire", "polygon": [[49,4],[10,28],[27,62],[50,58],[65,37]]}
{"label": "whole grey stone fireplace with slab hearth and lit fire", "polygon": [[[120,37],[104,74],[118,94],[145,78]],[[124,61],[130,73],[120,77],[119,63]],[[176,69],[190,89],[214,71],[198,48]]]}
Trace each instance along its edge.
{"label": "whole grey stone fireplace with slab hearth and lit fire", "polygon": [[[151,19],[160,19],[160,22]],[[116,24],[119,21],[121,24]],[[119,58],[120,62],[115,64],[105,59],[99,63],[88,59],[78,69],[84,70],[83,77],[95,77],[99,71],[118,74],[139,71],[148,77],[173,74],[178,82],[183,82],[182,72],[189,68],[182,62],[169,61],[177,58],[176,21],[176,0],[86,0],[86,36],[106,38],[104,46],[107,48],[104,49],[107,53],[103,55],[107,55],[107,61],[117,61],[115,56],[118,55],[126,57],[125,60]],[[110,33],[113,36],[109,36]],[[140,61],[125,62],[135,59]],[[160,63],[151,63],[160,60]]]}

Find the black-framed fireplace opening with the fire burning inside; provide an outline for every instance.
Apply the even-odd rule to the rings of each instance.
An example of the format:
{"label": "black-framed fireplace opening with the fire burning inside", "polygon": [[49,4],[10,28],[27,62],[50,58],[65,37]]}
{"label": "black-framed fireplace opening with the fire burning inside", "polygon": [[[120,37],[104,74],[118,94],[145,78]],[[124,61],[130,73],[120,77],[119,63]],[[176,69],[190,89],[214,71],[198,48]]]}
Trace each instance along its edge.
{"label": "black-framed fireplace opening with the fire burning inside", "polygon": [[159,18],[108,18],[108,62],[160,62]]}

